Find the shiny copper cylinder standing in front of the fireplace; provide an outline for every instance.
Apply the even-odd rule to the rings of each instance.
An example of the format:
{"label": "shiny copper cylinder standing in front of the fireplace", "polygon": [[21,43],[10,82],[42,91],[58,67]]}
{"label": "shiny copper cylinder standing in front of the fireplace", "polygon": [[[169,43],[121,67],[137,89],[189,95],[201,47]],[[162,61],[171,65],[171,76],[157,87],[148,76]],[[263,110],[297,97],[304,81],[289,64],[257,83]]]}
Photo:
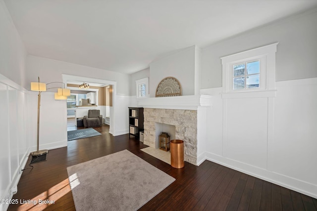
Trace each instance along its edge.
{"label": "shiny copper cylinder standing in front of the fireplace", "polygon": [[170,141],[170,165],[176,169],[184,167],[184,141],[178,139]]}

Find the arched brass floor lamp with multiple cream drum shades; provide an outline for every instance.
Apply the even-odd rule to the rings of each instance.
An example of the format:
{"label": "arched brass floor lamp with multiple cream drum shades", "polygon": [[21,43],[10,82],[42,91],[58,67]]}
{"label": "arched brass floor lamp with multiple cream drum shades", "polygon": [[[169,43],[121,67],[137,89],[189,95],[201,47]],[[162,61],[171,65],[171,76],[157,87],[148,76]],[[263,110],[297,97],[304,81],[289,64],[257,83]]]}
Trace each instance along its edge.
{"label": "arched brass floor lamp with multiple cream drum shades", "polygon": [[[46,85],[60,83],[63,84],[63,87],[51,87],[46,88]],[[62,82],[52,82],[49,84],[40,83],[40,77],[38,77],[38,82],[31,82],[31,90],[38,91],[38,125],[37,125],[37,150],[31,152],[32,156],[40,156],[49,152],[49,150],[39,150],[40,142],[39,142],[39,134],[40,134],[40,105],[41,105],[41,93],[42,91],[46,91],[47,89],[57,88],[57,92],[54,93],[55,100],[66,100],[67,96],[70,95],[70,89],[65,88],[65,84]]]}

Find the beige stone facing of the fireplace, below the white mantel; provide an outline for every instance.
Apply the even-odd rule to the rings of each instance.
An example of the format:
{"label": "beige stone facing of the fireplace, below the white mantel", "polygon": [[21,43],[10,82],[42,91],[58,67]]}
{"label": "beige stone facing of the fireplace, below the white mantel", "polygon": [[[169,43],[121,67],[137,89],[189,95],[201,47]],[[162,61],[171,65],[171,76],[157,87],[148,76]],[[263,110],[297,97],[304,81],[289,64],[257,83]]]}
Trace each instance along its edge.
{"label": "beige stone facing of the fireplace, below the white mantel", "polygon": [[144,108],[144,144],[155,148],[155,123],[175,126],[175,139],[184,141],[184,160],[197,165],[197,111]]}

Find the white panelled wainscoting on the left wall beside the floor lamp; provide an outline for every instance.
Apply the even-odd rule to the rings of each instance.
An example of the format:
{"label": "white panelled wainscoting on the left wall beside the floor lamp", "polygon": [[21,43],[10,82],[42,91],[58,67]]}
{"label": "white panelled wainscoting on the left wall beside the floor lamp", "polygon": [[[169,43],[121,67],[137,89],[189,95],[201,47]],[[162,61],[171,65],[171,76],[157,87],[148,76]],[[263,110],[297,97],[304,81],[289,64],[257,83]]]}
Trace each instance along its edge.
{"label": "white panelled wainscoting on the left wall beside the floor lamp", "polygon": [[[11,199],[29,155],[27,90],[0,74],[0,198]],[[8,204],[0,204],[6,210]]]}

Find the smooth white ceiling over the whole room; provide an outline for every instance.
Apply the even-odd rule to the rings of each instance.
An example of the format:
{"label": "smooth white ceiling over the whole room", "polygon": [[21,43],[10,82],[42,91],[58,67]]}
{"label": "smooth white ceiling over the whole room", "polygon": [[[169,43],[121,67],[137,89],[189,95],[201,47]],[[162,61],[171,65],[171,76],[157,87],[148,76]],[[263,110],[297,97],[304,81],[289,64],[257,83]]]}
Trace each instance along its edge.
{"label": "smooth white ceiling over the whole room", "polygon": [[131,74],[317,0],[4,0],[29,54]]}

